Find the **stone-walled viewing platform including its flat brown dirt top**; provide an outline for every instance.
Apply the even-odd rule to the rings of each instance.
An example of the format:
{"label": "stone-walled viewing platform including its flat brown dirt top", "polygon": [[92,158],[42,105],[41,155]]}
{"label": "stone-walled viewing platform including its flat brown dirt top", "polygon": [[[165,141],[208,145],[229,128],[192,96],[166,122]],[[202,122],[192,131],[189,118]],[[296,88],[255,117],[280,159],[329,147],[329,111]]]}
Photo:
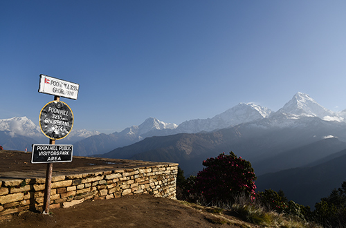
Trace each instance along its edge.
{"label": "stone-walled viewing platform including its flat brown dirt top", "polygon": [[[47,164],[30,160],[31,153],[0,151],[0,219],[42,211]],[[177,173],[176,163],[73,157],[53,164],[50,208],[134,194],[174,199]]]}

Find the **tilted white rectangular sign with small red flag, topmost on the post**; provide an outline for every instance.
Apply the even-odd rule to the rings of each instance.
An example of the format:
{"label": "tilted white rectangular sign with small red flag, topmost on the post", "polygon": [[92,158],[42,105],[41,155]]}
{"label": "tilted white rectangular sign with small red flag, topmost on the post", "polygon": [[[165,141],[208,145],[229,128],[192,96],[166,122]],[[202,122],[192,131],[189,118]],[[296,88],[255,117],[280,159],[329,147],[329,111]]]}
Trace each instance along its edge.
{"label": "tilted white rectangular sign with small red flag, topmost on the post", "polygon": [[79,89],[79,84],[47,75],[39,75],[39,93],[77,99]]}

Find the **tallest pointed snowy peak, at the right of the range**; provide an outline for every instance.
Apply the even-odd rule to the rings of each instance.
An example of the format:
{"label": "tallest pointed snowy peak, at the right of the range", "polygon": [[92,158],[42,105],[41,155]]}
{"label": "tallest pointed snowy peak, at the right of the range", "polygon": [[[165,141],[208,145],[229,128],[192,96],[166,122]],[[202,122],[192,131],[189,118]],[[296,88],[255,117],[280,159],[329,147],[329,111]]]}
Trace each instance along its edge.
{"label": "tallest pointed snowy peak, at the right of the range", "polygon": [[291,118],[320,117],[322,120],[334,119],[336,114],[318,104],[306,93],[296,93],[277,113],[284,113]]}

